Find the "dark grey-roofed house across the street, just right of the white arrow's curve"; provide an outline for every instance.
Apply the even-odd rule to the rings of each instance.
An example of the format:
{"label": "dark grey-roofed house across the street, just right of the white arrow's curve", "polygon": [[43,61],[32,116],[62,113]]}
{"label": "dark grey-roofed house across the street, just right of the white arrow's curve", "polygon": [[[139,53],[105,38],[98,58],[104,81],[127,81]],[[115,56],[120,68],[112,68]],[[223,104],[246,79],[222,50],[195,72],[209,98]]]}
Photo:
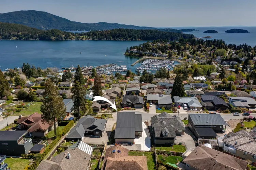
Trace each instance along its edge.
{"label": "dark grey-roofed house across the street, just right of the white arrow's curve", "polygon": [[123,107],[143,108],[144,99],[141,96],[125,95],[122,99]]}

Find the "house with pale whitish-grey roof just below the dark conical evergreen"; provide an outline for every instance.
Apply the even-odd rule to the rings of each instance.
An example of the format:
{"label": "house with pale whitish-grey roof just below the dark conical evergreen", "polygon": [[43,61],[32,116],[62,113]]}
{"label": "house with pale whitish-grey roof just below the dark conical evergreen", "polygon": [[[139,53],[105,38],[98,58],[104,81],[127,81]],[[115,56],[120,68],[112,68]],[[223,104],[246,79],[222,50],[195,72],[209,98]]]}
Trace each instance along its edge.
{"label": "house with pale whitish-grey roof just below the dark conical evergreen", "polygon": [[198,101],[198,99],[196,97],[177,97],[174,96],[174,102],[175,102],[175,106],[184,106],[184,104],[187,105],[187,109],[193,109],[196,108],[197,110],[201,110],[202,105],[200,104],[200,102]]}

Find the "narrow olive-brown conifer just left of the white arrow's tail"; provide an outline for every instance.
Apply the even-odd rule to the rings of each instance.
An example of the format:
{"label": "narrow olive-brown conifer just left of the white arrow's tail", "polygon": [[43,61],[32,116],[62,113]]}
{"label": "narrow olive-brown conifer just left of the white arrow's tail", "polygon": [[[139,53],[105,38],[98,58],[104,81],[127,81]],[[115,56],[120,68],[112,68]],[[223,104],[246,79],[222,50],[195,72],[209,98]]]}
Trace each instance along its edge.
{"label": "narrow olive-brown conifer just left of the white arrow's tail", "polygon": [[82,87],[79,82],[75,82],[75,85],[71,89],[72,100],[74,105],[72,106],[72,111],[74,111],[74,116],[79,120],[80,116],[83,116],[86,113],[86,89]]}

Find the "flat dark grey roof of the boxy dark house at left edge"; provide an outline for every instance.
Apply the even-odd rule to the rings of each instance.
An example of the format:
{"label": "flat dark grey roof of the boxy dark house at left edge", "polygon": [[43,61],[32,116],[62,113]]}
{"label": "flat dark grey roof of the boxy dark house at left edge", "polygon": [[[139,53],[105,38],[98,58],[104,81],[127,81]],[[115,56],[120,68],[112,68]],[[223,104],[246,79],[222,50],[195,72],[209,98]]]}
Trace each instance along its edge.
{"label": "flat dark grey roof of the boxy dark house at left edge", "polygon": [[0,131],[0,141],[1,140],[18,140],[20,137],[24,136],[27,131]]}

